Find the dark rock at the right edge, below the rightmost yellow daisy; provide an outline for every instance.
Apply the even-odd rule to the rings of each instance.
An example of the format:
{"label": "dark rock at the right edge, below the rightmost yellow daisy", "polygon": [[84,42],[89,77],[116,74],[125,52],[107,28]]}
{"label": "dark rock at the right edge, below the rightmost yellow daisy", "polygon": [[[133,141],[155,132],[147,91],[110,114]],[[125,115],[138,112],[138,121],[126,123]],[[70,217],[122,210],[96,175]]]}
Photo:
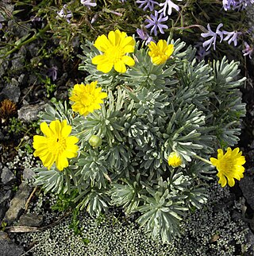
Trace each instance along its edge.
{"label": "dark rock at the right edge, below the rightmost yellow daisy", "polygon": [[253,176],[244,176],[239,182],[241,191],[243,192],[244,198],[247,200],[249,206],[254,210],[254,180]]}

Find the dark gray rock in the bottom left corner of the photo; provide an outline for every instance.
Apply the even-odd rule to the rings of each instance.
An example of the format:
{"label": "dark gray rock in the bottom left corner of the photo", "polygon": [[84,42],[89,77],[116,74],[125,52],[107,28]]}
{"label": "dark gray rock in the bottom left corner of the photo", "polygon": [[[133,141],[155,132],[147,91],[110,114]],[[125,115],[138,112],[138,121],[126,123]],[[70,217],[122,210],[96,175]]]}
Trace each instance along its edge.
{"label": "dark gray rock in the bottom left corner of the photo", "polygon": [[16,243],[12,242],[3,231],[0,231],[0,248],[1,256],[20,256],[25,254],[23,247],[17,246]]}

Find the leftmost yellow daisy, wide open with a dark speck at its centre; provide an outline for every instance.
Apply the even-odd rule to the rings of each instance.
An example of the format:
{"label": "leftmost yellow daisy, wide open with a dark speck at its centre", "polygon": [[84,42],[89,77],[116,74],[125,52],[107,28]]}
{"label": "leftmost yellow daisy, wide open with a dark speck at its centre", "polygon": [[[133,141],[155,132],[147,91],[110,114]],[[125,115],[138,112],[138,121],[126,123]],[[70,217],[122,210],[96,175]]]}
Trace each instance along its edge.
{"label": "leftmost yellow daisy, wide open with a dark speck at its centre", "polygon": [[79,149],[75,143],[79,139],[71,134],[71,126],[67,125],[67,121],[52,121],[48,126],[46,122],[40,124],[40,130],[45,136],[33,136],[33,153],[35,157],[40,157],[42,164],[50,169],[54,162],[56,168],[62,171],[69,165],[67,158],[77,156]]}

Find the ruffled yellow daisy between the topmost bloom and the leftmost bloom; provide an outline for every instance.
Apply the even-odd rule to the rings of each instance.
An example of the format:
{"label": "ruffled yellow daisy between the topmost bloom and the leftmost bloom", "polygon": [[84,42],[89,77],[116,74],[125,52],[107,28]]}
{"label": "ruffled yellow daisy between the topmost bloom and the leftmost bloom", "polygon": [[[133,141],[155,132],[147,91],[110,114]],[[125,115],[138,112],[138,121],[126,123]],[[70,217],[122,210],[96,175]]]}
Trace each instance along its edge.
{"label": "ruffled yellow daisy between the topmost bloom and the leftmost bloom", "polygon": [[106,98],[107,94],[102,92],[102,87],[96,88],[97,82],[91,82],[86,85],[75,84],[69,98],[74,102],[71,106],[73,111],[87,115],[101,108],[102,99]]}

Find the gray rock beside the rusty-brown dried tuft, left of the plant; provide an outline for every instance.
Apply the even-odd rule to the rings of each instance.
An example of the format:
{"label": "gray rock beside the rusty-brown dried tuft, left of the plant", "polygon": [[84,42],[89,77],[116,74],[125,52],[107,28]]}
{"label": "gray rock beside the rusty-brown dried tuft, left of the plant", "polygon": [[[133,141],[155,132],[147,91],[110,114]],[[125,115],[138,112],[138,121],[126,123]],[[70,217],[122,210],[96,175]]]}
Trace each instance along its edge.
{"label": "gray rock beside the rusty-brown dried tuft, left of the plant", "polygon": [[18,118],[24,120],[25,122],[35,121],[38,119],[38,113],[43,111],[47,105],[47,103],[39,103],[36,105],[23,106],[17,111]]}

